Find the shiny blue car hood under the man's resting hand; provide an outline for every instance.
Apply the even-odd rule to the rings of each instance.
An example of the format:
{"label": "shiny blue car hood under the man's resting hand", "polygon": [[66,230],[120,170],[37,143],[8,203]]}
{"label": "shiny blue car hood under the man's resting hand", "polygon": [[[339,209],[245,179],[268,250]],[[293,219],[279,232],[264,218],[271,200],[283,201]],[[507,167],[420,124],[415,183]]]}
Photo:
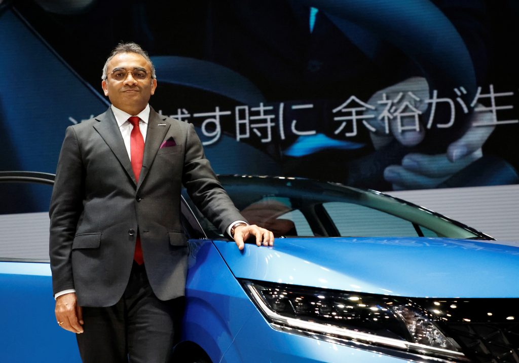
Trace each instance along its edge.
{"label": "shiny blue car hood under the man's resting hand", "polygon": [[237,278],[436,298],[519,297],[519,248],[446,238],[278,238],[274,247],[215,240]]}

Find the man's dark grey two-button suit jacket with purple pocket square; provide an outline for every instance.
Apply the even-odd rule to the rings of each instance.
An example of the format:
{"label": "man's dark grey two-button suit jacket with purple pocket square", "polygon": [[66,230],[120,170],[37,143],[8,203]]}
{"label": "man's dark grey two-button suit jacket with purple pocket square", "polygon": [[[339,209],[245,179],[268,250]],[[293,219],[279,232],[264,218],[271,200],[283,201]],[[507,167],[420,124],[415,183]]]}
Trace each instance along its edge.
{"label": "man's dark grey two-button suit jacket with purple pocket square", "polygon": [[[160,147],[171,137],[176,145]],[[67,128],[49,211],[54,293],[74,288],[81,306],[115,304],[128,283],[139,231],[157,297],[183,295],[182,184],[222,232],[244,220],[216,179],[192,124],[151,110],[138,183],[110,108]]]}

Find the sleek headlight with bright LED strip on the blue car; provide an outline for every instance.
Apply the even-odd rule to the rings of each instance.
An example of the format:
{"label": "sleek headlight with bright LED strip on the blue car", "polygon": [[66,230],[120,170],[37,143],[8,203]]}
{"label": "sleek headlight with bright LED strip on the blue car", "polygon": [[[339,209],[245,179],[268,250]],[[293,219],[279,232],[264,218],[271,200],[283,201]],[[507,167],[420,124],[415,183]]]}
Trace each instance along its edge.
{"label": "sleek headlight with bright LED strip on the blue car", "polygon": [[389,355],[469,361],[461,347],[406,298],[241,281],[272,327]]}

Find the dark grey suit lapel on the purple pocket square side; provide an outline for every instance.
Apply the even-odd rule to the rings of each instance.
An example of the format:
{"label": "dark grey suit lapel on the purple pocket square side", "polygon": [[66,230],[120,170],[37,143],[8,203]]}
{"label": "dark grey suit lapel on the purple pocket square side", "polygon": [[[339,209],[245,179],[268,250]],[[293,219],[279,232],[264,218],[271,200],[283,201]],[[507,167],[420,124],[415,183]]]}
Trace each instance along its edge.
{"label": "dark grey suit lapel on the purple pocket square side", "polygon": [[[160,143],[165,138],[166,133],[170,128],[170,123],[164,122],[166,117],[161,117],[153,109],[149,111],[148,130],[146,131],[146,141],[144,143],[144,156],[142,159],[141,175],[139,177],[139,184],[137,189],[141,186],[143,180],[146,178],[149,169],[153,164],[153,160],[157,155]],[[159,124],[166,126],[158,126]]]}

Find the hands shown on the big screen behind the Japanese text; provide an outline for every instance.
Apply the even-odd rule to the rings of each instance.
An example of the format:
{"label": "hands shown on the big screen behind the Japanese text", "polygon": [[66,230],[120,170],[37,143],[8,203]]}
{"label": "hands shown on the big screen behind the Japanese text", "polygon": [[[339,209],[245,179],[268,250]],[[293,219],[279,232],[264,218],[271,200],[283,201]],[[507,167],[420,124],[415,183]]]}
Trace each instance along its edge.
{"label": "hands shown on the big screen behind the Japanese text", "polygon": [[[412,95],[409,95],[412,93]],[[399,104],[409,102],[422,115],[426,114],[427,104],[424,102],[429,97],[429,86],[423,77],[411,77],[395,85],[374,93],[368,103],[377,104],[380,100],[394,100],[401,96]],[[417,100],[419,99],[419,100]],[[378,115],[383,112],[384,106],[377,107]],[[450,143],[442,154],[428,155],[424,153],[409,152],[402,158],[400,165],[390,165],[384,169],[384,179],[391,183],[393,190],[426,189],[434,188],[454,174],[467,167],[483,156],[482,146],[494,131],[491,125],[492,114],[490,112],[473,112],[468,122],[471,126],[456,141]],[[381,149],[392,140],[397,140],[404,147],[418,145],[424,140],[427,129],[424,120],[420,119],[418,130],[399,130],[397,122],[389,122],[389,133],[385,132],[386,125],[380,117],[373,118],[370,123],[377,129],[370,133],[375,149]],[[412,127],[412,120],[403,120],[401,127]],[[472,124],[485,124],[488,126],[472,126]]]}

